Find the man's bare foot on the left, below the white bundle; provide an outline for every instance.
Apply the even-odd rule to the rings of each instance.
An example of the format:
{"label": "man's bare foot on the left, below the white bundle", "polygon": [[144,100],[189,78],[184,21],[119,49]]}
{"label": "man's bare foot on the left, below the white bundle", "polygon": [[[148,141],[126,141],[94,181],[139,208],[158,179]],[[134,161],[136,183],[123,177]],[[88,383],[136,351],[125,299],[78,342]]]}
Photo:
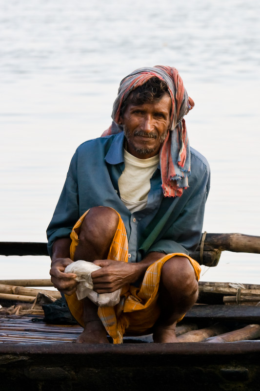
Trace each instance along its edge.
{"label": "man's bare foot on the left, below the white bundle", "polygon": [[102,322],[100,320],[94,320],[86,324],[75,342],[77,344],[109,344],[106,335],[106,330]]}

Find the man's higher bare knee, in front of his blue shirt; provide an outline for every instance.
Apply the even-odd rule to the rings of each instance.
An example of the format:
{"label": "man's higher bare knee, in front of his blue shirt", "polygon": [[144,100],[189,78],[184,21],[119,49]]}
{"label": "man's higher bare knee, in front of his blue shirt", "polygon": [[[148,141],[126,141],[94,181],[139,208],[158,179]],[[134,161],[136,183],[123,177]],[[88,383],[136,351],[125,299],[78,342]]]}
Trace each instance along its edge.
{"label": "man's higher bare knee, in front of his blue shirt", "polygon": [[96,206],[89,210],[80,226],[80,240],[113,238],[119,223],[117,212],[106,206]]}

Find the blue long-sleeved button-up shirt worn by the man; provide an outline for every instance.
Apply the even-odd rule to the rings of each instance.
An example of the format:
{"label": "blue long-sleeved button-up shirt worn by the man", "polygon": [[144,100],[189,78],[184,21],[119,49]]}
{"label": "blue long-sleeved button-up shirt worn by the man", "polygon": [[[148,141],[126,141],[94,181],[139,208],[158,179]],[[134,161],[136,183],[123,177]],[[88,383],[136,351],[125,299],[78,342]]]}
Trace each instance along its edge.
{"label": "blue long-sleeved button-up shirt worn by the man", "polygon": [[120,199],[118,179],[124,170],[123,132],[86,141],[75,152],[53,218],[47,229],[48,249],[56,239],[69,237],[77,220],[94,206],[114,208],[124,222],[128,261],[151,251],[189,254],[197,247],[209,191],[209,166],[191,149],[189,187],[181,197],[163,197],[160,166],[153,174],[147,205],[131,212]]}

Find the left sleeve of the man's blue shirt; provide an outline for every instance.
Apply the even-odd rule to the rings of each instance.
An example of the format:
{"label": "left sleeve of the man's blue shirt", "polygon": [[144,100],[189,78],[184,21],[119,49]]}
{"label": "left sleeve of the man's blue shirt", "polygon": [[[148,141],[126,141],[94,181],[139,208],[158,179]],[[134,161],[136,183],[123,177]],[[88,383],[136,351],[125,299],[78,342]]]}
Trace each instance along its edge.
{"label": "left sleeve of the man's blue shirt", "polygon": [[77,152],[73,156],[63,186],[60,199],[52,220],[47,228],[48,252],[52,255],[52,246],[59,238],[69,238],[72,228],[80,218],[79,192],[77,182]]}

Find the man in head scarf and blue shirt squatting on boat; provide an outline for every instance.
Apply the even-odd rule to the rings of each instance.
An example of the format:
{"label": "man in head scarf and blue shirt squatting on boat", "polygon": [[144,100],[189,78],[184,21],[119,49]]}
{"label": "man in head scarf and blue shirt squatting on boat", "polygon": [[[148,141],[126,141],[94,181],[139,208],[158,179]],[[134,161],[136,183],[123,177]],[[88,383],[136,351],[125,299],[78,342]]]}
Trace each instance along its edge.
{"label": "man in head scarf and blue shirt squatting on boat", "polygon": [[[197,247],[209,167],[190,149],[184,115],[194,106],[175,68],[141,68],[120,84],[111,127],[76,151],[48,227],[50,274],[84,331],[77,342],[114,343],[175,327],[198,297]],[[73,261],[92,261],[97,293],[121,288],[120,303],[77,300]]]}

